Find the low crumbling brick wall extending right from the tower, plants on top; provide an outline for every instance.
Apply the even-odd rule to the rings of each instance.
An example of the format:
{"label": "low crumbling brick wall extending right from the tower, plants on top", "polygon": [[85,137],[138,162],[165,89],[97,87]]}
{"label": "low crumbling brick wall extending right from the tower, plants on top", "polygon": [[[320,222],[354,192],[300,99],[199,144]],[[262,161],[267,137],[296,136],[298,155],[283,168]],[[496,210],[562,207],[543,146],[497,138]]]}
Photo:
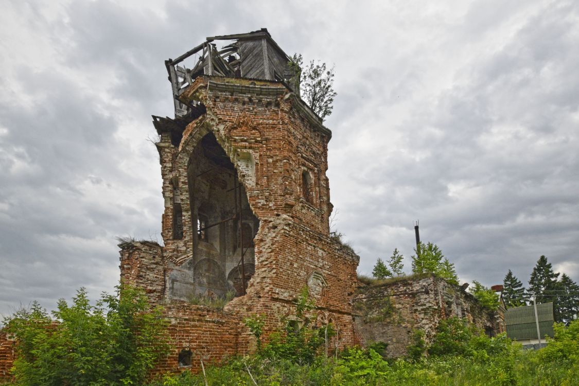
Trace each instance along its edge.
{"label": "low crumbling brick wall extending right from the tower, plants on top", "polygon": [[362,285],[354,297],[356,330],[362,345],[384,342],[388,356],[406,355],[414,330],[433,339],[439,322],[463,318],[488,334],[504,332],[500,311],[490,311],[470,293],[434,275],[395,278]]}

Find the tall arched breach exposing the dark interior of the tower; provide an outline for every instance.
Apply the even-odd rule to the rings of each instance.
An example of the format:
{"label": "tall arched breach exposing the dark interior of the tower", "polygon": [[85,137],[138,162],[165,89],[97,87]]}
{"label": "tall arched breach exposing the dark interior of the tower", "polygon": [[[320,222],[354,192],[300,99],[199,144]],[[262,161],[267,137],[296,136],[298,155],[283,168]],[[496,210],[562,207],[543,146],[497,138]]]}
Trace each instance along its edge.
{"label": "tall arched breach exposing the dark interior of the tower", "polygon": [[[248,172],[251,168],[244,168],[244,178]],[[190,156],[188,185],[194,235],[193,291],[223,296],[234,290],[236,296],[244,295],[255,271],[254,237],[259,220],[251,211],[236,167],[212,133],[199,141]],[[230,278],[228,273],[234,271],[239,275]]]}

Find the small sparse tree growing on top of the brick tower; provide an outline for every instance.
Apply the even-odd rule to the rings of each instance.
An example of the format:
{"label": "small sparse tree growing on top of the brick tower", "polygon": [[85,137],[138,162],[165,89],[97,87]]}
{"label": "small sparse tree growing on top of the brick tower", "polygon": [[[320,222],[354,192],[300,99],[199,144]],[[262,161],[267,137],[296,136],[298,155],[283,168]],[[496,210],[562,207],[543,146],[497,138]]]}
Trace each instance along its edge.
{"label": "small sparse tree growing on top of the brick tower", "polygon": [[329,116],[334,109],[334,67],[328,69],[325,63],[310,61],[303,67],[301,54],[291,57],[290,69],[294,73],[295,83],[299,84],[300,94],[313,112],[321,119]]}

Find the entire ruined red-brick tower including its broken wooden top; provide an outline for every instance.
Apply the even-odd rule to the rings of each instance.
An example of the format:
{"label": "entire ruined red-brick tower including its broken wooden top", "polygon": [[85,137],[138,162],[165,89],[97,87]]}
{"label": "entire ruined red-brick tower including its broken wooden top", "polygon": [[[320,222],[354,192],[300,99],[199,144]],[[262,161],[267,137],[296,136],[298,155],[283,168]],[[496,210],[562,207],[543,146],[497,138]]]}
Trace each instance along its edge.
{"label": "entire ruined red-brick tower including its broken wooden top", "polygon": [[[248,350],[243,318],[265,314],[266,330],[279,328],[306,285],[336,343],[357,341],[349,299],[359,258],[329,235],[331,131],[301,100],[289,63],[265,28],[212,36],[165,62],[175,116],[153,116],[164,246],[119,245],[123,281],[162,304],[175,329],[164,370],[182,367],[184,350],[215,359]],[[226,295],[223,311],[191,304]]]}

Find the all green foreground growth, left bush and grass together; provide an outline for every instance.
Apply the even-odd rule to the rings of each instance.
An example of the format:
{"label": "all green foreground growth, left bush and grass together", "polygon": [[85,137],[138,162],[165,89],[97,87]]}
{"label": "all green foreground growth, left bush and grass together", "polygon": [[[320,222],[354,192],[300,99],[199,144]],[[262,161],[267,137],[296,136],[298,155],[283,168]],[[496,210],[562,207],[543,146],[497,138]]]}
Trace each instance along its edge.
{"label": "all green foreground growth, left bush and grass together", "polygon": [[[119,292],[120,298],[105,294],[91,306],[81,289],[72,304],[61,300],[52,317],[35,303],[6,318],[6,332],[18,337],[15,384],[146,384],[148,370],[170,347],[162,339],[166,321],[160,310],[147,311],[142,291],[119,287]],[[204,374],[166,375],[149,380],[149,386],[579,385],[579,320],[556,325],[547,347],[524,351],[504,335],[489,338],[461,319],[448,319],[430,345],[416,331],[408,358],[386,360],[385,343],[332,352],[334,328],[313,328],[307,288],[295,306],[300,323],[288,321],[265,343],[263,315],[245,319],[257,343],[255,354],[222,366],[205,363]]]}

